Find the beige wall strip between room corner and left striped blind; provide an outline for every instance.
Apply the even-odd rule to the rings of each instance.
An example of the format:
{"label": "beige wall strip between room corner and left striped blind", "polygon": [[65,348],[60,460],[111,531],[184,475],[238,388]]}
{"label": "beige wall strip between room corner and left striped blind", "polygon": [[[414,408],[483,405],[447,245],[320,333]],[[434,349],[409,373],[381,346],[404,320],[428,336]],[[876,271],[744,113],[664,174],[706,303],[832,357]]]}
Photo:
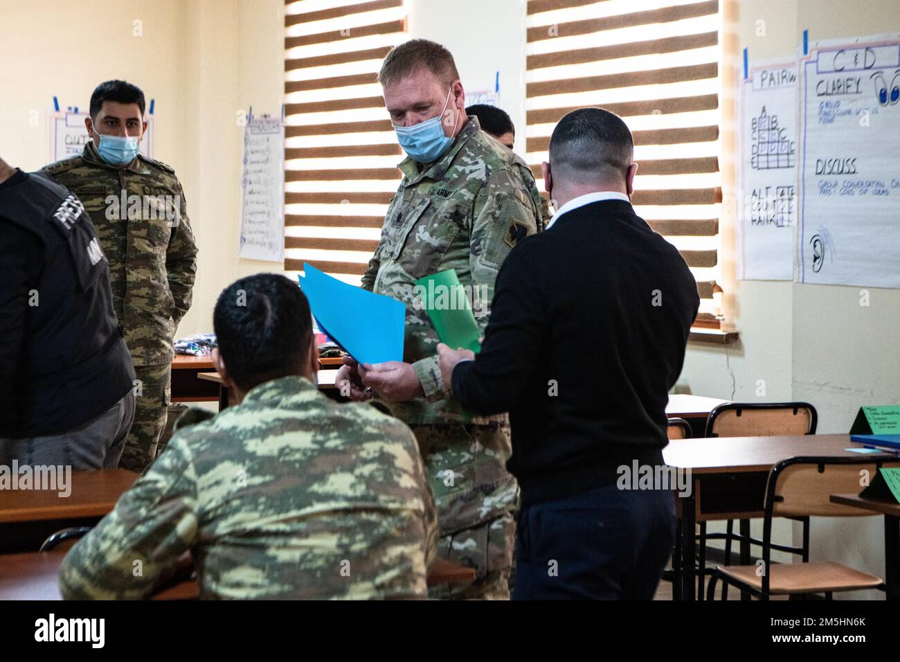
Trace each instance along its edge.
{"label": "beige wall strip between room corner and left striped blind", "polygon": [[[192,26],[184,62],[186,117],[183,140],[188,210],[200,245],[193,308],[179,333],[212,331],[212,308],[223,287],[263,271],[283,273],[275,262],[239,259],[240,159],[238,116],[253,106],[281,113],[284,95],[284,2],[191,0],[184,23]],[[191,192],[193,197],[191,197]]]}

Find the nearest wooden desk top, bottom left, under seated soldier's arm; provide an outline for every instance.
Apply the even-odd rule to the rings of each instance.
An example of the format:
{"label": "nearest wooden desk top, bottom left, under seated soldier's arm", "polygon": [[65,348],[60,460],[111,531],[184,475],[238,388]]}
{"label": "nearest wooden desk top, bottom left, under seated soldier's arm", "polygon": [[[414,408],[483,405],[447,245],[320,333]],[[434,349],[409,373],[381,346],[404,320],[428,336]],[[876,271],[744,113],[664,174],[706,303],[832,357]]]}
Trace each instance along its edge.
{"label": "nearest wooden desk top, bottom left, under seated soldier's arm", "polygon": [[[0,601],[62,600],[59,594],[59,566],[67,549],[0,556]],[[154,600],[192,600],[200,587],[192,580],[167,587]]]}

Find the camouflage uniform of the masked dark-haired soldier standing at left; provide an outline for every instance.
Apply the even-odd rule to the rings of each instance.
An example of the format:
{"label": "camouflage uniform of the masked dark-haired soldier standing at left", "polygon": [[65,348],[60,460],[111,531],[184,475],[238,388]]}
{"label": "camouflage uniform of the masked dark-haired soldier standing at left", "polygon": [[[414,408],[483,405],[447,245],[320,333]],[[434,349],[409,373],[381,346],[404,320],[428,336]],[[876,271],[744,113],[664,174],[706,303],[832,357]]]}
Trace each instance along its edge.
{"label": "camouflage uniform of the masked dark-haired soldier standing at left", "polygon": [[109,259],[112,303],[139,380],[120,466],[143,471],[166,427],[172,340],[191,307],[197,247],[184,191],[166,164],[139,156],[128,167],[116,168],[100,158],[93,142],[80,157],[43,171],[81,199]]}

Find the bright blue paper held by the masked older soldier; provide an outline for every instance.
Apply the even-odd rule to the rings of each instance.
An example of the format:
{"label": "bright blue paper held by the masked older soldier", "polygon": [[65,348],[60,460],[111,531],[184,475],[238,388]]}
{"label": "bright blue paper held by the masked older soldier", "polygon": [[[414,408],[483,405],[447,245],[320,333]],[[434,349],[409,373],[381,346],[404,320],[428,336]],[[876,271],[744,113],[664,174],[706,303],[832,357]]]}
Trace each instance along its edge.
{"label": "bright blue paper held by the masked older soldier", "polygon": [[360,363],[403,360],[406,306],[303,263],[303,294],[322,331]]}

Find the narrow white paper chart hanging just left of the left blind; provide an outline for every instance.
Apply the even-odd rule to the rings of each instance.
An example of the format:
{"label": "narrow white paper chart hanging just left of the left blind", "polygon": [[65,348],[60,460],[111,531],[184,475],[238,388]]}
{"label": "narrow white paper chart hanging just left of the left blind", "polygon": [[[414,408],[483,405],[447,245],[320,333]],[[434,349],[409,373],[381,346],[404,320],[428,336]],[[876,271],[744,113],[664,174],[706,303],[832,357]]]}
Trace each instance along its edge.
{"label": "narrow white paper chart hanging just left of the left blind", "polygon": [[284,261],[284,126],[252,117],[244,129],[239,258]]}

